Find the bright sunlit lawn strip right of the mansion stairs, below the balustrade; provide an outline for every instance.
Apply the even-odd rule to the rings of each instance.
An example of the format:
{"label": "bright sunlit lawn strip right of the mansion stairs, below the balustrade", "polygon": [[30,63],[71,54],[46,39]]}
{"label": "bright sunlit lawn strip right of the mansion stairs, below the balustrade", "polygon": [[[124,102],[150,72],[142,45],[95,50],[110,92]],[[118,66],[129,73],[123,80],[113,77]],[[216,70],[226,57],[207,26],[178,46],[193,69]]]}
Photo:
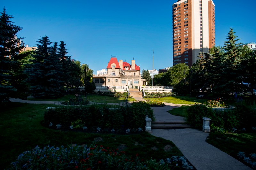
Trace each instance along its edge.
{"label": "bright sunlit lawn strip right of the mansion stairs, below the balustrade", "polygon": [[171,97],[161,97],[161,98],[147,98],[149,100],[156,100],[166,103],[173,104],[195,104],[195,103],[204,103],[207,101],[206,99],[197,99],[196,97],[188,97],[188,96],[171,96]]}

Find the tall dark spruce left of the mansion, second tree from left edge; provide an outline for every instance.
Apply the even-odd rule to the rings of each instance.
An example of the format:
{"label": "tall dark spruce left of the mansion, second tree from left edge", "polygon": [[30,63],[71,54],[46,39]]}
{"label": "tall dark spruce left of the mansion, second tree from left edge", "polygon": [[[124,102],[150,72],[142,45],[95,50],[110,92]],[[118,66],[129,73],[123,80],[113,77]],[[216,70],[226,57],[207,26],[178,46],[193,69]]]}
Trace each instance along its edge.
{"label": "tall dark spruce left of the mansion, second tree from left edge", "polygon": [[48,36],[41,37],[37,45],[35,59],[32,60],[28,82],[31,85],[31,93],[35,97],[57,97],[62,93],[62,66],[57,55],[57,43],[51,47]]}

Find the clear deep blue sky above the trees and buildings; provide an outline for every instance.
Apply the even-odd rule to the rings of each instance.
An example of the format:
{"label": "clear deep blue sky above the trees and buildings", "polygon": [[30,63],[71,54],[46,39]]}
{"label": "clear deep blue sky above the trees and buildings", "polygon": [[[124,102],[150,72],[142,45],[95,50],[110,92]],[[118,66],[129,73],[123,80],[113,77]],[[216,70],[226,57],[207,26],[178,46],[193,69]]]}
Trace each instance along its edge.
{"label": "clear deep blue sky above the trees and buildings", "polygon": [[[111,56],[136,60],[140,69],[172,66],[172,4],[177,0],[44,0],[2,1],[12,21],[23,28],[18,37],[35,46],[45,35],[67,43],[68,55],[105,69]],[[216,45],[223,46],[230,28],[240,42],[256,41],[255,0],[213,0]],[[3,11],[1,9],[1,11]]]}

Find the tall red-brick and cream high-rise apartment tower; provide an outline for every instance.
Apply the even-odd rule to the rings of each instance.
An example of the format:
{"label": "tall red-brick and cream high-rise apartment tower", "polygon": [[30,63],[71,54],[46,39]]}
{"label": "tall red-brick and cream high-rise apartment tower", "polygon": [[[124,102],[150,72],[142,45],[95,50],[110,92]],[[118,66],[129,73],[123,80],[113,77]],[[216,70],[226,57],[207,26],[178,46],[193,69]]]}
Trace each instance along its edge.
{"label": "tall red-brick and cream high-rise apartment tower", "polygon": [[215,5],[212,0],[178,0],[172,15],[173,65],[191,67],[200,52],[215,45]]}

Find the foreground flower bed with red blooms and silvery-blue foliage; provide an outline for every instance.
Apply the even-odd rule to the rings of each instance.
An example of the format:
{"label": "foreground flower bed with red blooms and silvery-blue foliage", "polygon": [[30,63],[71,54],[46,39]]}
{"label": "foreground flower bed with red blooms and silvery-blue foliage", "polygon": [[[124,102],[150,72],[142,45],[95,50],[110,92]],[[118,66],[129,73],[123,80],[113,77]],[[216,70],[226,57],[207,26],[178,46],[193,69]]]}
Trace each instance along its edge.
{"label": "foreground flower bed with red blooms and silvery-blue foliage", "polygon": [[91,145],[61,148],[36,146],[32,151],[20,154],[12,169],[193,169],[184,157],[172,156],[166,160],[140,159],[137,153],[126,156],[124,151]]}

